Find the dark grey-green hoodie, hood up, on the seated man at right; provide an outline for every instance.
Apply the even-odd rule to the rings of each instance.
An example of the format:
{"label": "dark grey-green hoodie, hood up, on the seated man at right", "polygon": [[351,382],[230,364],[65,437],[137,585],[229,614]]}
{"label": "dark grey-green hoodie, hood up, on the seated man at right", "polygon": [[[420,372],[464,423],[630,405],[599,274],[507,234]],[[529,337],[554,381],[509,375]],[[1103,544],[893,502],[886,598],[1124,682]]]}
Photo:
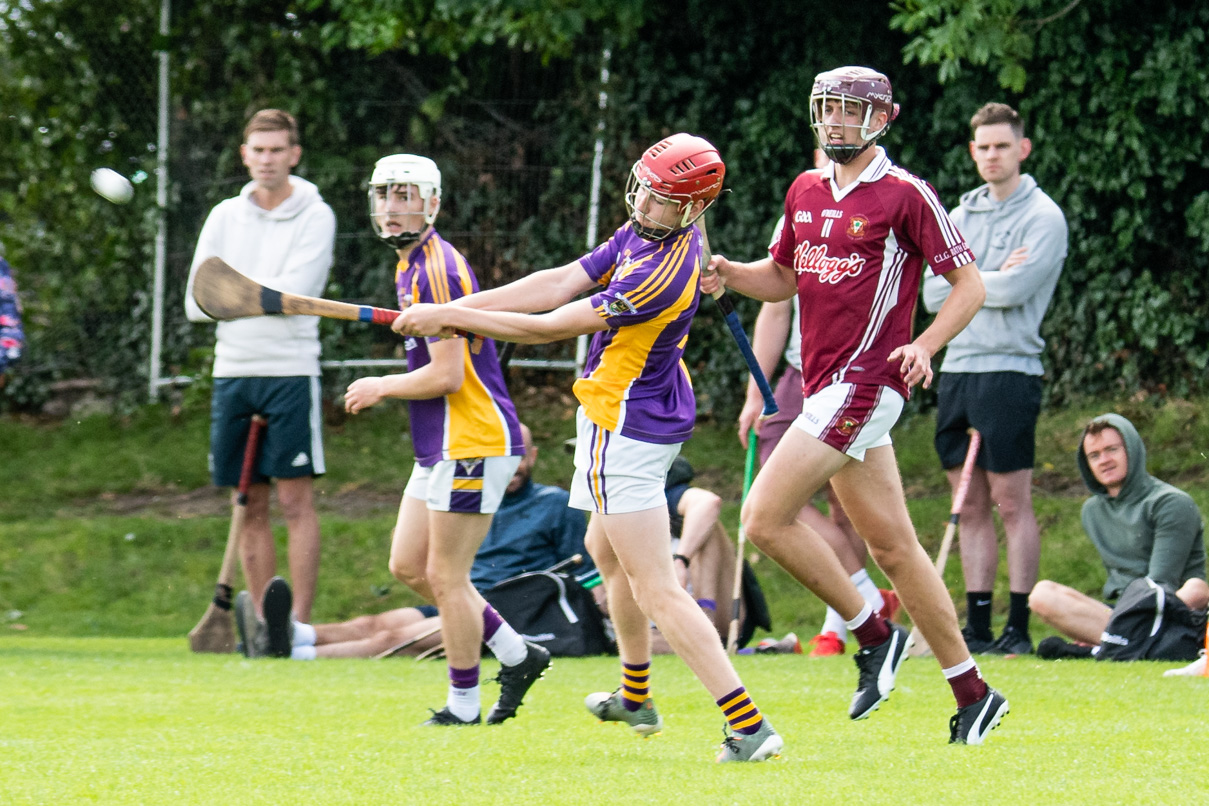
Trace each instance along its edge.
{"label": "dark grey-green hoodie, hood up, on the seated man at right", "polygon": [[1126,483],[1116,498],[1095,480],[1080,440],[1076,459],[1093,497],[1083,501],[1083,530],[1100,553],[1109,579],[1104,598],[1116,599],[1141,576],[1179,588],[1205,578],[1204,522],[1192,497],[1146,472],[1146,446],[1120,414],[1100,414],[1126,443]]}

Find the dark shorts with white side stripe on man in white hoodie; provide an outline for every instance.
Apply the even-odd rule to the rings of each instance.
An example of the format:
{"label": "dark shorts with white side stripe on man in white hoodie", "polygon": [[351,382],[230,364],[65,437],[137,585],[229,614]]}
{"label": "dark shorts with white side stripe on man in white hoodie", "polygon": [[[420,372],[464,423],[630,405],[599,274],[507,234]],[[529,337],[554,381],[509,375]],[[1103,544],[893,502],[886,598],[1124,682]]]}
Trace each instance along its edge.
{"label": "dark shorts with white side stripe on man in white hoodie", "polygon": [[210,477],[216,487],[239,483],[253,414],[268,423],[260,437],[253,482],[322,476],[319,378],[214,378],[210,400]]}

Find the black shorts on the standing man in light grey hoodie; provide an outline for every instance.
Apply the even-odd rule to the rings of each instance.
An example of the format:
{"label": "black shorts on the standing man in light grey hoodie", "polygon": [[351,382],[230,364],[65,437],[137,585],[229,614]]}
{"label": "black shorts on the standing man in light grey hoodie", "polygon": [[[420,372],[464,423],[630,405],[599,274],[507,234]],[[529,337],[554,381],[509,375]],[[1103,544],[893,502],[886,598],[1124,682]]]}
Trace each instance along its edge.
{"label": "black shorts on the standing man in light grey hoodie", "polygon": [[960,468],[966,429],[982,434],[976,464],[990,472],[1029,470],[1036,457],[1041,377],[1023,372],[941,372],[936,453],[945,470]]}

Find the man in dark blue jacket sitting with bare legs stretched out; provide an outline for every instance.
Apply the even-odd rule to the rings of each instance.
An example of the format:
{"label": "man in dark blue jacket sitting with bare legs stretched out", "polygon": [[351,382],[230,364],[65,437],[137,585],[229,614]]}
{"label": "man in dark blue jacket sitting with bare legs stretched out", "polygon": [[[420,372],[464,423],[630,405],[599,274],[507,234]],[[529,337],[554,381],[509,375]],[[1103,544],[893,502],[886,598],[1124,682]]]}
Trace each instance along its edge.
{"label": "man in dark blue jacket sitting with bare legs stretched out", "polygon": [[[583,562],[575,567],[574,576],[585,587],[591,586],[598,575],[584,549],[584,515],[568,506],[567,491],[532,480],[538,448],[523,423],[521,436],[525,439],[525,457],[508,483],[491,529],[475,555],[470,581],[484,593],[504,579],[544,570],[582,555]],[[374,657],[428,633],[403,650],[403,654],[418,655],[440,643],[440,633],[433,632],[439,627],[440,616],[436,608],[429,604],[397,608],[336,624],[295,622],[291,657]],[[264,654],[265,646],[260,640],[264,630],[261,622],[251,631],[251,646],[245,649],[249,657]]]}

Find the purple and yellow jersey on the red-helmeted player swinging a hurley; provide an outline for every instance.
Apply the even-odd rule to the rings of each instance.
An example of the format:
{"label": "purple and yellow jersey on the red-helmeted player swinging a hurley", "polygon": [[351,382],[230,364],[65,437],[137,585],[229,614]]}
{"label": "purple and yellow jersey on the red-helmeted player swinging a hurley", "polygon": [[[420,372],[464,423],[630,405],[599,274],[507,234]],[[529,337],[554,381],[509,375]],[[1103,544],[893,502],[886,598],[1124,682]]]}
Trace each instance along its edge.
{"label": "purple and yellow jersey on the red-helmeted player swinging a hurley", "polygon": [[604,286],[591,296],[609,329],[592,336],[575,398],[601,428],[672,445],[693,434],[696,400],[684,344],[700,300],[701,233],[643,240],[629,224],[579,259]]}

